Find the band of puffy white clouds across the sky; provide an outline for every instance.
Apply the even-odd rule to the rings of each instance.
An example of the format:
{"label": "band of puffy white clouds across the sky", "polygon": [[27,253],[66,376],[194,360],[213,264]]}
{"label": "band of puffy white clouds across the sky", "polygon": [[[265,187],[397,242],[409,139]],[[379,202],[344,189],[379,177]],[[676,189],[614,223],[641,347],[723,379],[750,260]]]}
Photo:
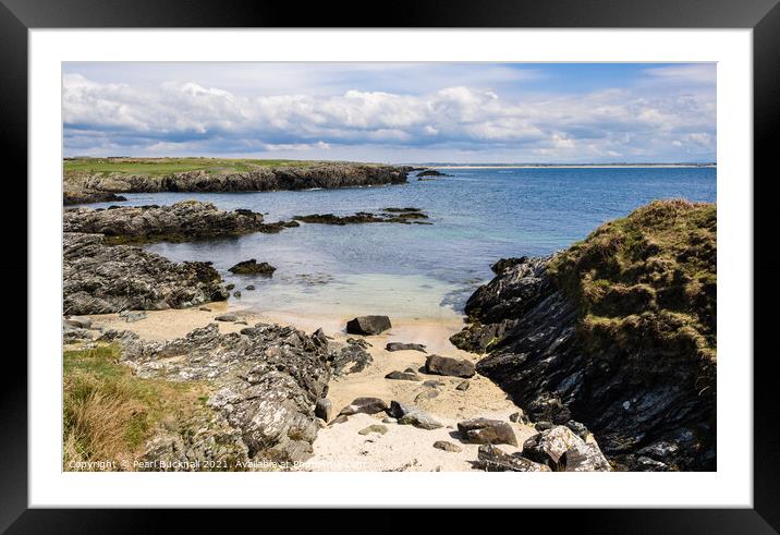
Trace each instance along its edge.
{"label": "band of puffy white clouds across the sky", "polygon": [[[363,66],[359,72],[365,71]],[[493,71],[491,80],[517,76],[505,69]],[[389,72],[409,74],[409,68],[382,66],[382,76]],[[365,90],[355,85],[337,94],[295,87],[266,95],[192,81],[111,83],[68,73],[62,93],[65,151],[273,151],[301,157],[301,153],[336,155],[349,153],[349,147],[365,151],[375,146],[376,154],[395,159],[426,149],[430,154],[509,154],[514,161],[674,159],[680,155],[711,159],[716,145],[714,72],[714,65],[650,68],[644,73],[651,84],[564,96],[504,95],[476,85],[474,76],[464,78],[475,85],[431,84],[425,93]],[[434,78],[452,82],[447,76]],[[681,88],[671,90],[667,84],[668,90],[659,90],[656,84],[663,81]]]}

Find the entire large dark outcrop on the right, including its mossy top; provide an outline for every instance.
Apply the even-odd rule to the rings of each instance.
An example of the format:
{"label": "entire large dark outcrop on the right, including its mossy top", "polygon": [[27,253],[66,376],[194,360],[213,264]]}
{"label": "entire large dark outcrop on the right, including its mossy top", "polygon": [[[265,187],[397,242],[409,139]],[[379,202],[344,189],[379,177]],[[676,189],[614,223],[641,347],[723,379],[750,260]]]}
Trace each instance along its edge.
{"label": "entire large dark outcrop on the right, including its mossy top", "polygon": [[715,470],[715,220],[658,202],[498,263],[451,340],[487,353],[477,370],[532,421],[587,425],[617,469]]}

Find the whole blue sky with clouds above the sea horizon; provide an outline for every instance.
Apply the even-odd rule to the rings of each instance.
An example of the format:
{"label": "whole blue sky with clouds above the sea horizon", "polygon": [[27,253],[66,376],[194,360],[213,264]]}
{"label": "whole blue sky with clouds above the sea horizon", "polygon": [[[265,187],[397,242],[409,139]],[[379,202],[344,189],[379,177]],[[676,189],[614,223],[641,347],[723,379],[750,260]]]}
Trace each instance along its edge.
{"label": "whole blue sky with clouds above the sea horizon", "polygon": [[716,161],[715,63],[63,63],[64,155]]}

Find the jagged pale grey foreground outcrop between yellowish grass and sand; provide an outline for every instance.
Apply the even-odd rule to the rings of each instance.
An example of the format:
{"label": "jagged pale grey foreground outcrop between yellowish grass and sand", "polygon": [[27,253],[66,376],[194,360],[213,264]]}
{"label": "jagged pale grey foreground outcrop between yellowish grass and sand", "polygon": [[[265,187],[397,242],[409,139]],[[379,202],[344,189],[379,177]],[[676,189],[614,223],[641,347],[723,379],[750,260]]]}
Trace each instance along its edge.
{"label": "jagged pale grey foreground outcrop between yellowish grass and sand", "polygon": [[252,459],[304,461],[328,392],[327,348],[292,327],[257,324],[220,335],[216,324],[164,342],[123,343],[123,362],[139,377],[203,381],[207,404],[240,435]]}

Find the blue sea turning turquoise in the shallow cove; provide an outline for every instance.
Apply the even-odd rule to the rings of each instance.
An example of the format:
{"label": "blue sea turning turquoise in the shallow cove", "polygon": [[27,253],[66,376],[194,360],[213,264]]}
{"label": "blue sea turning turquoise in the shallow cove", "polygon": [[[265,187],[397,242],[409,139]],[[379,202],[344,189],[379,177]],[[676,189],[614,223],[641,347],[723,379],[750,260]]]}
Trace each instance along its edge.
{"label": "blue sea turning turquoise in the shallow cove", "polygon": [[[456,316],[471,292],[507,256],[544,255],[653,199],[716,200],[714,168],[448,169],[450,178],[381,187],[270,193],[126,194],[122,205],[208,200],[248,208],[268,221],[295,215],[354,214],[414,206],[432,226],[304,224],[279,234],[148,246],[172,260],[211,260],[259,312]],[[414,173],[412,173],[414,174]],[[117,204],[117,203],[113,203]],[[109,206],[89,205],[93,207]],[[228,268],[256,258],[271,279]],[[254,284],[255,291],[244,287]],[[231,297],[232,299],[232,297]]]}

